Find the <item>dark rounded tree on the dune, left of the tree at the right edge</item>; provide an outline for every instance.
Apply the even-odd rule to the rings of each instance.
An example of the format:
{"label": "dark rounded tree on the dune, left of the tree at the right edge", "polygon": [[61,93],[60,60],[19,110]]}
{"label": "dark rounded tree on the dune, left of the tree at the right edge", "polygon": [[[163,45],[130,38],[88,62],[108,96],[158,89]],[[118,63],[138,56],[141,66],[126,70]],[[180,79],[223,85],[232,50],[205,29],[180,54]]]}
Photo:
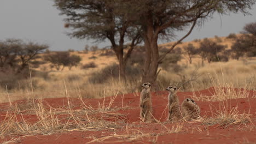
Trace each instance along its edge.
{"label": "dark rounded tree on the dune, left of the tree at the right edge", "polygon": [[200,42],[199,55],[203,61],[207,59],[208,63],[215,61],[216,57],[218,58],[218,53],[225,50],[226,45],[220,45],[216,42],[209,40],[207,38],[203,39]]}

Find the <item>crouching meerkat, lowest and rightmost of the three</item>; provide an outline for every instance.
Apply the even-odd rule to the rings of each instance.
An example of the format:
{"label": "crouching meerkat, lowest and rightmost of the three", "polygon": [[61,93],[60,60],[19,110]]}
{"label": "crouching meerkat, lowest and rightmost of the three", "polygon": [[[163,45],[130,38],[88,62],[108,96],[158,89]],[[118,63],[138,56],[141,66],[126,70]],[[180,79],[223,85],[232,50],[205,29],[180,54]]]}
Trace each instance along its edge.
{"label": "crouching meerkat, lowest and rightmost of the three", "polygon": [[193,99],[187,98],[181,105],[181,111],[184,119],[190,121],[196,119],[200,114],[200,107],[195,103]]}

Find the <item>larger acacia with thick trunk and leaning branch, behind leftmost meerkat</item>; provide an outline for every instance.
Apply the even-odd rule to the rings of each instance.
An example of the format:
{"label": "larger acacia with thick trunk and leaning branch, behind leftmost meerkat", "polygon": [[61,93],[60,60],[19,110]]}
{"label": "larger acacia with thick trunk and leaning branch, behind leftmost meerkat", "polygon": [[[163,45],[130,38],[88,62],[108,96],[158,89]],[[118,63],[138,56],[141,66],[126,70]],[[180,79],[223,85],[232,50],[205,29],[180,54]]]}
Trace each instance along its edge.
{"label": "larger acacia with thick trunk and leaning branch, behind leftmost meerkat", "polygon": [[[136,0],[125,1],[129,4],[127,14],[134,15],[135,25],[142,27],[142,38],[146,49],[144,59],[142,82],[153,83],[159,73],[159,63],[170,53],[174,47],[184,38],[188,37],[195,25],[203,20],[211,18],[214,12],[219,14],[237,13],[251,8],[255,0]],[[161,35],[171,37],[174,31],[184,30],[189,27],[189,31],[171,48],[159,55],[158,40]]]}

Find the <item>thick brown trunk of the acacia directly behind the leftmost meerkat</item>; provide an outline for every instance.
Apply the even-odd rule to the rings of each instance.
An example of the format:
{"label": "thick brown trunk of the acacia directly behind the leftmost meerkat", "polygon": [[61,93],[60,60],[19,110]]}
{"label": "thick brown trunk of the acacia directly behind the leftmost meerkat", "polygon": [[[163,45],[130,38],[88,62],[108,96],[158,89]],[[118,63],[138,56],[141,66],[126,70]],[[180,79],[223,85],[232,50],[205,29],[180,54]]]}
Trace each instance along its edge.
{"label": "thick brown trunk of the acacia directly behind the leftmost meerkat", "polygon": [[148,26],[143,34],[146,56],[143,66],[142,83],[154,83],[158,75],[158,34],[153,32],[153,27]]}

